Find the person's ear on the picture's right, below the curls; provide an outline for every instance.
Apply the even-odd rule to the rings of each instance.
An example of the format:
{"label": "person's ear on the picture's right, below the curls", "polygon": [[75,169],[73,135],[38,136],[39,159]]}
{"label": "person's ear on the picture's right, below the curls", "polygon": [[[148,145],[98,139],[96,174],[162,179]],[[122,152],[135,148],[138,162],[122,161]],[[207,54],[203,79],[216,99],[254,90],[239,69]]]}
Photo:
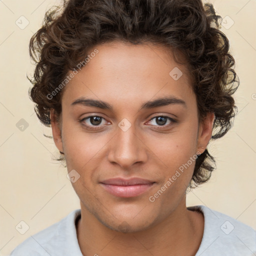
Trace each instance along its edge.
{"label": "person's ear on the picture's right, below the curls", "polygon": [[197,151],[203,153],[211,138],[212,127],[215,115],[208,112],[205,118],[199,123],[198,137],[197,137]]}

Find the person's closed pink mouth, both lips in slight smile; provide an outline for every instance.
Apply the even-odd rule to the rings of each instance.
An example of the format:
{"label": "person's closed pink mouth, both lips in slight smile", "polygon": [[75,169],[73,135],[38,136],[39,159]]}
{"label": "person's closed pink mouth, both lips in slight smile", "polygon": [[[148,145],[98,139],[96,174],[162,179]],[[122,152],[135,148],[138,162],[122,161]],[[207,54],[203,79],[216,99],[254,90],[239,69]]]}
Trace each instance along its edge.
{"label": "person's closed pink mouth, both lips in slight smile", "polygon": [[148,191],[154,181],[142,178],[111,178],[100,182],[103,188],[118,197],[134,197]]}

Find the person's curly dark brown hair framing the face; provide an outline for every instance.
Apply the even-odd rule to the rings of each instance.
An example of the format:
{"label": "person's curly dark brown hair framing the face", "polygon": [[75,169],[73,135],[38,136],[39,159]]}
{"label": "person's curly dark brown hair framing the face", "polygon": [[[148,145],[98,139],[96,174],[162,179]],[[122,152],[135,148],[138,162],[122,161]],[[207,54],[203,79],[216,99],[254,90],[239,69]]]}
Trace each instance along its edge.
{"label": "person's curly dark brown hair framing the face", "polygon": [[[95,45],[114,40],[155,43],[185,56],[199,120],[213,112],[211,139],[222,137],[236,114],[232,94],[239,79],[229,41],[219,30],[221,21],[212,4],[201,0],[69,0],[53,6],[29,43],[36,63],[33,77],[27,77],[33,84],[29,97],[37,117],[50,126],[53,109],[59,120],[63,89],[50,99],[47,95]],[[215,160],[205,149],[195,161],[189,187],[206,182],[214,168]]]}

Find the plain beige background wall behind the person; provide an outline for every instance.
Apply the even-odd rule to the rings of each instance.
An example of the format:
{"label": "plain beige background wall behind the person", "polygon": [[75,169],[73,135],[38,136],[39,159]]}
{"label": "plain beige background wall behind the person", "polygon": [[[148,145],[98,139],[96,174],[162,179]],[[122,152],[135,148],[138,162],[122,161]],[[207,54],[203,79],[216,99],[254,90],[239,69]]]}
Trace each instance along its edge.
{"label": "plain beige background wall behind the person", "polygon": [[[31,74],[28,41],[41,24],[53,0],[0,0],[0,255],[25,238],[59,221],[79,200],[66,169],[52,160],[58,151],[50,128],[42,126],[28,98]],[[238,115],[232,129],[208,146],[217,169],[210,181],[191,191],[187,206],[203,204],[256,229],[256,0],[211,0],[223,17],[223,31],[230,40],[240,87],[235,94]],[[19,25],[29,24],[20,29]],[[20,19],[22,19],[22,24]],[[16,127],[21,119],[23,131]],[[29,229],[20,234],[15,226],[25,221]]]}

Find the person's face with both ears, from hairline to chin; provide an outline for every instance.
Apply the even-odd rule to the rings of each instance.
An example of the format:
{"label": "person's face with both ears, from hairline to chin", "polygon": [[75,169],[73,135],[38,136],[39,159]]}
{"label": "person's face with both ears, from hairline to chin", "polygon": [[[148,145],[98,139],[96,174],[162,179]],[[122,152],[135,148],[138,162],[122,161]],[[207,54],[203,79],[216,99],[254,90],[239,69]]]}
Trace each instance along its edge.
{"label": "person's face with both ears, from hairline to chin", "polygon": [[51,114],[54,142],[80,175],[72,186],[82,212],[114,230],[144,230],[184,202],[214,116],[198,123],[185,67],[164,47],[95,48],[64,88],[60,129]]}

